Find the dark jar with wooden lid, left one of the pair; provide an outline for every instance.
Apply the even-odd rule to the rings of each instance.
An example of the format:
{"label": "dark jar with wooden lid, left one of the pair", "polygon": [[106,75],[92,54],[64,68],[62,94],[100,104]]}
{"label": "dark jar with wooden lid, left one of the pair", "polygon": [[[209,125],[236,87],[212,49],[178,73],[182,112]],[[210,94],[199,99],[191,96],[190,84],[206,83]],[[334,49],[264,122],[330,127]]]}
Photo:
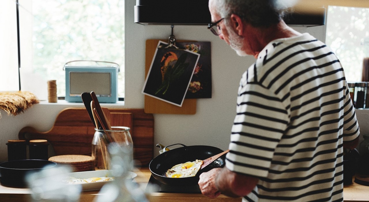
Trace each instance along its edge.
{"label": "dark jar with wooden lid, left one of the pair", "polygon": [[25,140],[8,140],[8,161],[27,159],[27,144]]}

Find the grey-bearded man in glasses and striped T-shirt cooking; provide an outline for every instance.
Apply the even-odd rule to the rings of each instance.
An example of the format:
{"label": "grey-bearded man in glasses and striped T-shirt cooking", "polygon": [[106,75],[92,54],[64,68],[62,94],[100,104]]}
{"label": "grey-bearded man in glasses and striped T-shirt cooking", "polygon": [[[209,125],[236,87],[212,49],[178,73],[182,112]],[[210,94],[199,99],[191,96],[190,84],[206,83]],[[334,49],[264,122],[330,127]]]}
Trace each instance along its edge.
{"label": "grey-bearded man in glasses and striped T-shirt cooking", "polygon": [[242,75],[224,168],[201,192],[243,201],[343,201],[344,148],[359,126],[339,60],[281,19],[272,0],[210,0],[209,29],[256,62]]}

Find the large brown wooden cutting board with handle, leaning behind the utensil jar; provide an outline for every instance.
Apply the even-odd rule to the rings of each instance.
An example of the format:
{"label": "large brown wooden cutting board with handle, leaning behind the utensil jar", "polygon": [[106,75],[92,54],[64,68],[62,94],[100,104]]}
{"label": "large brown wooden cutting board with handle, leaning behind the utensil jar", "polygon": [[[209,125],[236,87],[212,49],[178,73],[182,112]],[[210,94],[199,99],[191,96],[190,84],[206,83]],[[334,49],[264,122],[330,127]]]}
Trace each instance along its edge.
{"label": "large brown wooden cutting board with handle, leaning behind the utensil jar", "polygon": [[[147,166],[154,155],[154,116],[143,109],[112,109],[103,107],[111,126],[130,127],[134,143],[134,159]],[[46,132],[24,127],[18,133],[20,140],[44,139],[56,155],[91,155],[95,130],[85,108],[70,107],[56,116],[54,126]]]}

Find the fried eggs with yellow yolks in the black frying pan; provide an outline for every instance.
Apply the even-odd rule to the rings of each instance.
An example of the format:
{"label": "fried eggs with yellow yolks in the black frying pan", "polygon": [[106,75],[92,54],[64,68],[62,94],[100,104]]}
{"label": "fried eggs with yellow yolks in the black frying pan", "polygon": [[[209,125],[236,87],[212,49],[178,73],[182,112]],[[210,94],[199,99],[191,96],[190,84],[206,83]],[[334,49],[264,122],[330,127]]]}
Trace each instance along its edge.
{"label": "fried eggs with yellow yolks in the black frying pan", "polygon": [[194,177],[197,172],[199,172],[201,165],[203,165],[203,160],[188,161],[183,164],[177,164],[166,171],[166,177],[170,178],[186,178]]}

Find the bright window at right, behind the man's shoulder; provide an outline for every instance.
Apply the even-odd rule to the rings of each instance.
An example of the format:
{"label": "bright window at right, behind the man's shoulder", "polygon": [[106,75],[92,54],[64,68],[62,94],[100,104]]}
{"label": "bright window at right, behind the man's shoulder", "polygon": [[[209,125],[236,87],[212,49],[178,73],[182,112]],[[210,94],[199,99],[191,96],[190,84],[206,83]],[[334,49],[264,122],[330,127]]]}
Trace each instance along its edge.
{"label": "bright window at right, behind the man's shoulder", "polygon": [[326,44],[345,70],[347,81],[361,81],[369,57],[369,8],[328,6]]}

